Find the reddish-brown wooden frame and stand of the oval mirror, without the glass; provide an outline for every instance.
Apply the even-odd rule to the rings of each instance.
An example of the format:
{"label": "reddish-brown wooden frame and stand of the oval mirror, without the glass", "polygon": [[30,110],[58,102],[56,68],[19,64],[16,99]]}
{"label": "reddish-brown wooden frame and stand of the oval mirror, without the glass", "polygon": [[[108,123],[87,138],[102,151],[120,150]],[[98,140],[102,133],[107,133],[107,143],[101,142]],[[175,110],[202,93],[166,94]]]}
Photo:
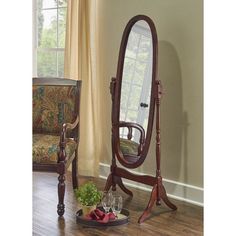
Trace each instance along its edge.
{"label": "reddish-brown wooden frame and stand of the oval mirror, without the glass", "polygon": [[[129,38],[130,31],[133,25],[140,20],[146,21],[149,25],[151,34],[152,34],[152,43],[153,43],[153,66],[152,66],[152,88],[151,88],[151,98],[150,98],[150,110],[149,110],[149,120],[147,133],[142,132],[142,129],[139,128],[139,125],[135,123],[127,123],[119,120],[120,114],[120,99],[121,99],[121,85],[122,85],[122,74],[124,67],[124,57],[126,46]],[[161,199],[164,203],[171,209],[176,210],[177,207],[170,202],[166,195],[165,188],[162,184],[162,177],[160,171],[160,161],[161,161],[161,151],[160,151],[160,100],[162,95],[162,86],[161,81],[156,79],[157,75],[157,54],[158,54],[158,39],[153,21],[144,15],[137,15],[133,17],[125,27],[117,66],[116,78],[112,78],[110,84],[110,92],[112,96],[112,164],[111,164],[111,173],[107,178],[107,182],[104,188],[104,191],[108,191],[111,187],[112,190],[116,190],[116,185],[128,195],[133,196],[132,192],[128,190],[123,182],[122,178],[130,179],[139,183],[147,184],[153,186],[152,193],[148,202],[148,205],[142,215],[139,217],[138,222],[142,223],[149,215],[150,211],[156,203],[156,205],[161,204]],[[156,176],[149,175],[135,175],[130,173],[128,170],[117,167],[116,159],[126,168],[137,168],[145,161],[147,152],[150,146],[154,111],[156,106]],[[119,128],[127,127],[130,130],[129,136],[131,136],[132,128],[137,128],[141,132],[139,152],[138,155],[134,158],[133,155],[124,154],[120,149],[120,137],[119,137]],[[131,137],[128,137],[128,139]]]}

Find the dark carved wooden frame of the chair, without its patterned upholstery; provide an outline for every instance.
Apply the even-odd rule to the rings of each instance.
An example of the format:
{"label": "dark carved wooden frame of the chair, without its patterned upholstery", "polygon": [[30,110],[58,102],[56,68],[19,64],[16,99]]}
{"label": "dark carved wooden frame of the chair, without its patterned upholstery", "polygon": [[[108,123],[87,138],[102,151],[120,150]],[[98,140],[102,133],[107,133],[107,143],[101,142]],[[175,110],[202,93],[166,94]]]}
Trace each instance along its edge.
{"label": "dark carved wooden frame of the chair, without its patterned upholstery", "polygon": [[71,139],[75,140],[79,144],[79,111],[80,111],[80,94],[81,94],[81,81],[75,81],[66,78],[33,78],[33,85],[42,86],[75,86],[75,117],[74,123],[64,123],[61,127],[58,161],[56,164],[40,164],[33,163],[33,171],[45,171],[56,172],[58,176],[58,205],[57,213],[59,216],[63,216],[65,212],[64,196],[65,196],[65,173],[67,168],[72,163],[72,185],[73,189],[78,187],[77,180],[77,159],[78,159],[78,145],[74,155],[70,158],[67,157],[65,152],[67,131],[73,130]]}

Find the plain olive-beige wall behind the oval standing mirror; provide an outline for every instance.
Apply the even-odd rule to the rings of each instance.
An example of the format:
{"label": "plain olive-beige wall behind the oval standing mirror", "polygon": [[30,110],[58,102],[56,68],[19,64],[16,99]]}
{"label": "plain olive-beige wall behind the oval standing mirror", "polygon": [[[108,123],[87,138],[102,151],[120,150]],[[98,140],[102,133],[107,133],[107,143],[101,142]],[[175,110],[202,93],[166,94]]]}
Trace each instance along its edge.
{"label": "plain olive-beige wall behind the oval standing mirror", "polygon": [[[100,76],[102,80],[103,149],[111,163],[111,97],[121,36],[128,20],[152,18],[159,38],[162,176],[203,186],[203,5],[201,0],[99,0]],[[149,154],[137,171],[155,175],[155,126]]]}

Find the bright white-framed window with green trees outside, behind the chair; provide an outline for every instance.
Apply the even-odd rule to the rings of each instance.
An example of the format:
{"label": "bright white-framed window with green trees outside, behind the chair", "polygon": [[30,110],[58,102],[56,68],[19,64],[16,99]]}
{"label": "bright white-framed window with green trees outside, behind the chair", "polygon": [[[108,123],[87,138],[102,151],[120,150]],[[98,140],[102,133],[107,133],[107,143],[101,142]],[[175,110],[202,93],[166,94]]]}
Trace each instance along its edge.
{"label": "bright white-framed window with green trees outside, behind the chair", "polygon": [[67,0],[34,0],[33,74],[64,76]]}

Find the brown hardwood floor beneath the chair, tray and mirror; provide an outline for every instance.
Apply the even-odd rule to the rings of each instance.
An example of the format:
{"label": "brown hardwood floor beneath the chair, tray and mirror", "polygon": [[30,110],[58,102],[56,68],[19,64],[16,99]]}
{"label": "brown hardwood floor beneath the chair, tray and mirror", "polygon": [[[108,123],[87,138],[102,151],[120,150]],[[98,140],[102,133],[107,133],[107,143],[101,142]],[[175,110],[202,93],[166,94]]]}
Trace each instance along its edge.
{"label": "brown hardwood floor beneath the chair, tray and mirror", "polygon": [[[105,181],[94,178],[79,178],[81,184],[92,179],[99,189],[103,189]],[[172,200],[178,207],[170,211],[164,206],[154,206],[152,215],[141,225],[137,223],[145,209],[150,192],[129,188],[134,193],[133,199],[125,195],[119,187],[117,191],[124,197],[124,207],[130,211],[129,223],[122,226],[88,228],[76,223],[75,213],[78,205],[73,194],[71,178],[66,178],[65,214],[58,218],[57,206],[57,174],[33,172],[33,235],[70,236],[70,235],[203,235],[203,208]]]}

